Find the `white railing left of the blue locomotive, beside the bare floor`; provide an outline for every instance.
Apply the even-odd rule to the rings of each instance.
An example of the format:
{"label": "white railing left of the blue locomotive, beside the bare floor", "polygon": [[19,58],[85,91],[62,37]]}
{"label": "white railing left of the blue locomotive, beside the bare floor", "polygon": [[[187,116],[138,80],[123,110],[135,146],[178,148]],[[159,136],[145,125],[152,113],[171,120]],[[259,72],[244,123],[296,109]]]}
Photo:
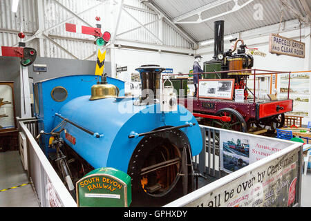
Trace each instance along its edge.
{"label": "white railing left of the blue locomotive, beside the bare floor", "polygon": [[[35,125],[26,126],[29,122],[37,123],[36,119],[20,119],[19,131],[21,131],[27,140],[28,151],[28,177],[35,186],[37,197],[41,207],[76,207],[77,203],[73,200],[66,186],[57,175],[53,166],[50,164],[46,155],[41,151],[40,146],[35,140],[35,130],[28,128],[36,128]],[[28,122],[28,123],[27,123]]]}

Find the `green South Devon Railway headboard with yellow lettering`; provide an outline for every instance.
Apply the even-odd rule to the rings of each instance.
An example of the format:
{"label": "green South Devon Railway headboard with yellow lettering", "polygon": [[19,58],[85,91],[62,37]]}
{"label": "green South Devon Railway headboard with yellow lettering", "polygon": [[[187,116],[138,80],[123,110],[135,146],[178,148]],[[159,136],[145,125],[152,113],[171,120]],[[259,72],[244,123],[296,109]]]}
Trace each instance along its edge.
{"label": "green South Devon Railway headboard with yellow lettering", "polygon": [[95,169],[76,187],[80,207],[127,207],[132,202],[131,177],[114,168]]}

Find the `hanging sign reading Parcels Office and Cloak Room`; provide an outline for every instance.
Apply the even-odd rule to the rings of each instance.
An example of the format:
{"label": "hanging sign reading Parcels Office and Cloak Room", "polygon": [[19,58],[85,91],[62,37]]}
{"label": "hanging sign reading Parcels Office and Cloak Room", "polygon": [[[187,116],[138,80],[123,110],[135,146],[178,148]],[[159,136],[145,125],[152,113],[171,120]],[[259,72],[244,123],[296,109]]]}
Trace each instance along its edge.
{"label": "hanging sign reading Parcels Office and Cloak Room", "polygon": [[269,52],[276,55],[305,58],[305,44],[301,41],[271,34]]}

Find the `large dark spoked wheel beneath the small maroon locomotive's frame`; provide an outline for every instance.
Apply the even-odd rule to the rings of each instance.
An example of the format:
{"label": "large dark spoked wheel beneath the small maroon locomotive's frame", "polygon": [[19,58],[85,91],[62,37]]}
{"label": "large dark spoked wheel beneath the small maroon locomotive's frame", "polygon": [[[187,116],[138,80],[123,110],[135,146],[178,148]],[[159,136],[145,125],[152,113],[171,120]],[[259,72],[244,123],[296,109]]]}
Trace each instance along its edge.
{"label": "large dark spoked wheel beneath the small maroon locomotive's frame", "polygon": [[211,122],[211,126],[217,127],[217,128],[223,128],[225,130],[232,130],[232,131],[240,131],[240,132],[247,132],[247,124],[245,122],[245,119],[241,115],[241,113],[238,113],[238,111],[232,109],[232,108],[223,108],[219,111],[217,111],[216,116],[227,116],[231,117],[230,122],[223,122],[220,119],[214,119]]}

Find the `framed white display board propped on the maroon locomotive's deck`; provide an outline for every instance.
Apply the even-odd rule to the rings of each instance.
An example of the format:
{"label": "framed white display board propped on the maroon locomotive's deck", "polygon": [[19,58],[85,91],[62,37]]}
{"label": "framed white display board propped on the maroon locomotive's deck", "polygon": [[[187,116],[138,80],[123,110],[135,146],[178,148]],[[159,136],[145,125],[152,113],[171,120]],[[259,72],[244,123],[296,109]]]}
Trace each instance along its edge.
{"label": "framed white display board propped on the maroon locomotive's deck", "polygon": [[212,99],[232,99],[234,79],[200,79],[198,97]]}

